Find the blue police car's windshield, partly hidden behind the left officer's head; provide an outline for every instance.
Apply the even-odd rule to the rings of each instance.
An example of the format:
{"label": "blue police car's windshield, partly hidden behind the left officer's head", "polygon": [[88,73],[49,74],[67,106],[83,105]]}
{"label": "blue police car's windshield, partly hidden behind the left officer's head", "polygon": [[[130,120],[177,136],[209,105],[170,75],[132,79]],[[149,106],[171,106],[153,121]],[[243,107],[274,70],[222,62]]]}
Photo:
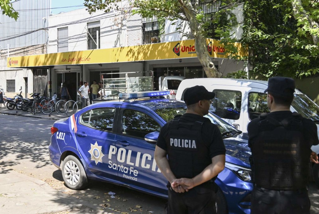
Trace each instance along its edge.
{"label": "blue police car's windshield, partly hidden behind the left officer's head", "polygon": [[[160,108],[154,111],[166,122],[168,122],[169,120],[172,120],[176,115],[184,114],[186,112],[186,107]],[[234,134],[232,133],[237,132],[237,130],[233,126],[229,125],[227,122],[211,113],[208,113],[204,117],[210,119],[213,124],[217,125],[221,133],[228,133],[228,135],[223,136],[223,138],[233,137]]]}

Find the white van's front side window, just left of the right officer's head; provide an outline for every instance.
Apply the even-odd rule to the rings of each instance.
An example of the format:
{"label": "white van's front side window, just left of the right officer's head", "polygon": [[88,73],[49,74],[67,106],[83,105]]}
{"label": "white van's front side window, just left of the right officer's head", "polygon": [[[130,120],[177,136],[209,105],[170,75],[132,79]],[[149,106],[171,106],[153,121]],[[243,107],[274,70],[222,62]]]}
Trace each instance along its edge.
{"label": "white van's front side window, just left of the right officer's head", "polygon": [[258,118],[262,113],[270,111],[267,106],[267,94],[251,92],[249,93],[248,99],[250,120]]}

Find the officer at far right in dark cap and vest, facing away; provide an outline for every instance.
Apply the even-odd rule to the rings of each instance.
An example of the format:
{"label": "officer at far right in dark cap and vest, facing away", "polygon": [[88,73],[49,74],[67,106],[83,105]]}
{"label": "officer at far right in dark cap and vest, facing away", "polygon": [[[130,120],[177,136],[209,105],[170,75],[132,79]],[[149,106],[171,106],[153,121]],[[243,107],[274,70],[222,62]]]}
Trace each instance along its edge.
{"label": "officer at far right in dark cap and vest, facing away", "polygon": [[271,77],[265,90],[271,111],[248,124],[254,182],[251,214],[310,212],[309,164],[318,163],[310,147],[319,142],[315,123],[290,111],[294,89],[293,79]]}

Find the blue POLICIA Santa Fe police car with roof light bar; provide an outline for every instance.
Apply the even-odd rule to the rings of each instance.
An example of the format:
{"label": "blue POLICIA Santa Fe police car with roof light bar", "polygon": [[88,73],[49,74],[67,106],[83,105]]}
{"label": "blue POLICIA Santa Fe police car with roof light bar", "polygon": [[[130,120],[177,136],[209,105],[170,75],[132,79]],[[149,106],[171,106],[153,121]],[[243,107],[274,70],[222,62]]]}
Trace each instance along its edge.
{"label": "blue POLICIA Santa Fe police car with roof light bar", "polygon": [[[167,198],[167,180],[154,160],[155,144],[160,128],[185,113],[186,105],[155,98],[166,93],[123,93],[121,100],[95,103],[56,121],[49,156],[61,169],[65,185],[83,189],[88,179],[100,180]],[[215,181],[217,213],[250,213],[253,184],[247,141],[216,115],[205,117],[219,127],[226,147],[226,166]]]}

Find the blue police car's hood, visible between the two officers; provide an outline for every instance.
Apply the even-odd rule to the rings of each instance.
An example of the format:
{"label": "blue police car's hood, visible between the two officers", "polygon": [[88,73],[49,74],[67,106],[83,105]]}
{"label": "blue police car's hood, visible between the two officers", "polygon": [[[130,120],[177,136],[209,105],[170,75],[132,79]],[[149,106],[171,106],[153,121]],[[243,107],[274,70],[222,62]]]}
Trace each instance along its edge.
{"label": "blue police car's hood, visible between the two officers", "polygon": [[224,139],[226,148],[226,162],[250,168],[249,156],[251,154],[248,141],[240,137]]}

